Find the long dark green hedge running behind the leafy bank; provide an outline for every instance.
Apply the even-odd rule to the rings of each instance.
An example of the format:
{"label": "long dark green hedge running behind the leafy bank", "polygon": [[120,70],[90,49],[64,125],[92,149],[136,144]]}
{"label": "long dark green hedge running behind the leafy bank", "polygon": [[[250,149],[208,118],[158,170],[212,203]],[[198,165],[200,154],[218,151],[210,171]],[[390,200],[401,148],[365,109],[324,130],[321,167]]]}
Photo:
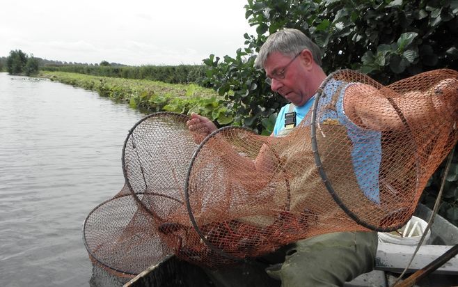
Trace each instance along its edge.
{"label": "long dark green hedge running behind the leafy bank", "polygon": [[44,65],[40,70],[50,72],[76,72],[98,77],[117,77],[123,79],[149,79],[170,84],[205,84],[205,65]]}

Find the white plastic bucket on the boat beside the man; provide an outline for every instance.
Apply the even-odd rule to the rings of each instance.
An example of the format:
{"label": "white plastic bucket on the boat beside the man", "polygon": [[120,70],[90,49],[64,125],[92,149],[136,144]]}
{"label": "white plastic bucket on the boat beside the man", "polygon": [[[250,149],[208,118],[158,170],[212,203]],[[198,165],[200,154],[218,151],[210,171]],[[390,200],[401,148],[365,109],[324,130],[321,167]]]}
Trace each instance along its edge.
{"label": "white plastic bucket on the boat beside the man", "polygon": [[[413,216],[406,225],[397,229],[397,231],[379,232],[379,241],[399,245],[418,245],[421,235],[423,235],[423,231],[425,231],[427,225],[425,220]],[[431,229],[429,229],[425,236],[422,245],[427,243],[429,236],[431,236]]]}

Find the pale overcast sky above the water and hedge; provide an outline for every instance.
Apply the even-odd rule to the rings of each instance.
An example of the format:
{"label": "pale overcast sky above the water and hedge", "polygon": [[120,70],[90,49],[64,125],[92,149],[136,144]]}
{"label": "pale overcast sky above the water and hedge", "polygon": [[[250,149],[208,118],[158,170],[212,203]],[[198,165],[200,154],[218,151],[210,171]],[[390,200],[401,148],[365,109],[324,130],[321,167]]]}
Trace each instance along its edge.
{"label": "pale overcast sky above the water and hedge", "polygon": [[125,65],[200,64],[235,56],[246,0],[19,0],[0,6],[0,56]]}

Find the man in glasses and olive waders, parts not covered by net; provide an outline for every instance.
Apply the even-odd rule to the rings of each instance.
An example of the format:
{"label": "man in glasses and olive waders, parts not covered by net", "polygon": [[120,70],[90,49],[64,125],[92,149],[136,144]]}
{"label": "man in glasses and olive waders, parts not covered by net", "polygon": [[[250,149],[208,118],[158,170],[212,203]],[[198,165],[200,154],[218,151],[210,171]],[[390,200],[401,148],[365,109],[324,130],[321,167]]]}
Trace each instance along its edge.
{"label": "man in glasses and olive waders, parts not covered by net", "polygon": [[[287,134],[285,115],[295,113],[295,121],[300,123],[313,104],[313,95],[326,79],[320,66],[319,48],[301,31],[284,29],[269,36],[260,49],[255,65],[264,68],[272,91],[291,102],[279,112],[271,134],[272,137],[283,136]],[[354,103],[348,101],[345,104]],[[194,134],[200,134],[200,140],[216,130],[212,121],[198,114],[191,115],[187,126]],[[196,137],[196,141],[199,139]],[[262,168],[264,160],[258,157],[254,165],[255,168]],[[280,279],[282,286],[342,286],[345,281],[374,267],[377,233],[329,233],[300,240],[282,251],[285,252],[285,261],[267,267],[267,273]],[[269,260],[264,258],[263,262],[278,262],[278,258]],[[262,266],[266,267],[265,264],[246,263],[239,270],[243,272],[244,268],[248,268],[251,271]],[[230,283],[237,277],[235,272],[210,272],[210,276],[223,286],[236,286],[240,282]]]}

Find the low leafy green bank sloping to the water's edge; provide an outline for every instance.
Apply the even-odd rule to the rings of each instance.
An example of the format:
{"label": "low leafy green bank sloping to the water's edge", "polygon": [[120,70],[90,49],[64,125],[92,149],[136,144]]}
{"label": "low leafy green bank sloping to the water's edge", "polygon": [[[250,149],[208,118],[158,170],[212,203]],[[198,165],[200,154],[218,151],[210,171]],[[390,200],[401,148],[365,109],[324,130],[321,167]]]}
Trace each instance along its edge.
{"label": "low leafy green bank sloping to the water's edge", "polygon": [[72,72],[41,71],[39,77],[70,84],[117,102],[125,102],[145,112],[175,111],[189,114],[195,111],[221,124],[232,121],[231,111],[220,104],[220,98],[210,88],[196,84],[167,84],[145,79],[96,77]]}

